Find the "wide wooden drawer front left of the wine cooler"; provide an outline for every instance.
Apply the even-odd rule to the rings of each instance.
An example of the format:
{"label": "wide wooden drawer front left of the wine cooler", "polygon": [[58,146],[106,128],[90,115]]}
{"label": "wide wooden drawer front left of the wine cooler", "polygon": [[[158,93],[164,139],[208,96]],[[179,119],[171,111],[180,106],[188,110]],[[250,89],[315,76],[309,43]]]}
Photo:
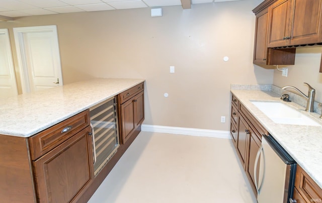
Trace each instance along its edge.
{"label": "wide wooden drawer front left of the wine cooler", "polygon": [[31,159],[35,160],[90,125],[90,111],[78,113],[29,138]]}

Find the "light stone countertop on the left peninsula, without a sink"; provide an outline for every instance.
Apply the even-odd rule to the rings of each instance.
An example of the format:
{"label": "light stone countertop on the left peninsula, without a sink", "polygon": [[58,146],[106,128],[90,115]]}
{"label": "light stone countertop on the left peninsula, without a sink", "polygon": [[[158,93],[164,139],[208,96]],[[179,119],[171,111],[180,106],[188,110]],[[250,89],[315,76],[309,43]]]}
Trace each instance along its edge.
{"label": "light stone countertop on the left peninsula, without a sink", "polygon": [[141,82],[96,78],[0,99],[0,134],[30,137]]}

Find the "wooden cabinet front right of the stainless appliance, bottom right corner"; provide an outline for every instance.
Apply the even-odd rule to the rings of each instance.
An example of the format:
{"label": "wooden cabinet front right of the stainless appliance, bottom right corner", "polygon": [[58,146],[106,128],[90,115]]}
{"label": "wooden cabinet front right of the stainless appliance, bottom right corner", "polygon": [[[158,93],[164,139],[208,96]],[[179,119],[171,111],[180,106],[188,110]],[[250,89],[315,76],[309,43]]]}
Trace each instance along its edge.
{"label": "wooden cabinet front right of the stainless appliance, bottom right corner", "polygon": [[322,201],[322,189],[299,165],[296,167],[295,187],[307,202]]}

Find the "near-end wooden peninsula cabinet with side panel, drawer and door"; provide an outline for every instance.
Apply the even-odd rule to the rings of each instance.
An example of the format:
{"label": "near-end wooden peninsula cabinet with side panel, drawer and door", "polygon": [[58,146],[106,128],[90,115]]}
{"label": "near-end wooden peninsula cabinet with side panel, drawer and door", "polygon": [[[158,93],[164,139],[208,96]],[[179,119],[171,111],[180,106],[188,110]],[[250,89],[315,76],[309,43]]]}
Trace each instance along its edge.
{"label": "near-end wooden peninsula cabinet with side panel, drawer and door", "polygon": [[0,135],[2,201],[76,201],[93,177],[89,126],[86,110],[28,138]]}

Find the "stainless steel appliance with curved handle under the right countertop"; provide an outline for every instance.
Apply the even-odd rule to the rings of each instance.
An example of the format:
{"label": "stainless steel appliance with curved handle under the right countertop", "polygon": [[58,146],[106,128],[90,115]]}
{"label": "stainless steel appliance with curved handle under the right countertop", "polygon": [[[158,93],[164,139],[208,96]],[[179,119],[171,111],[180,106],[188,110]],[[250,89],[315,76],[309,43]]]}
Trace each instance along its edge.
{"label": "stainless steel appliance with curved handle under the right countertop", "polygon": [[263,135],[254,167],[258,203],[288,202],[293,197],[295,172],[294,159],[270,134]]}

